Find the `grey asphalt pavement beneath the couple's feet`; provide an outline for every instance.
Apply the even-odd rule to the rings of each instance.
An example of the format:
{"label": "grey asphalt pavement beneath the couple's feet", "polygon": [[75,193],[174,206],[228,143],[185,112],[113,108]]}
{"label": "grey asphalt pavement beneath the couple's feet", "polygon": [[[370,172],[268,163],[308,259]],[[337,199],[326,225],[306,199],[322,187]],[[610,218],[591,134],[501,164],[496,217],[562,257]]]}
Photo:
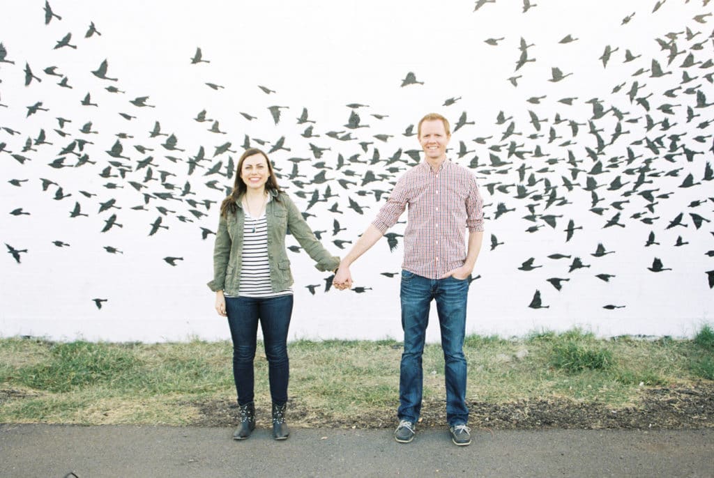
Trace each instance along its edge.
{"label": "grey asphalt pavement beneath the couple's feet", "polygon": [[282,442],[232,432],[0,424],[0,477],[714,477],[714,428],[474,429],[468,447],[446,427],[409,444],[389,429],[292,429]]}

